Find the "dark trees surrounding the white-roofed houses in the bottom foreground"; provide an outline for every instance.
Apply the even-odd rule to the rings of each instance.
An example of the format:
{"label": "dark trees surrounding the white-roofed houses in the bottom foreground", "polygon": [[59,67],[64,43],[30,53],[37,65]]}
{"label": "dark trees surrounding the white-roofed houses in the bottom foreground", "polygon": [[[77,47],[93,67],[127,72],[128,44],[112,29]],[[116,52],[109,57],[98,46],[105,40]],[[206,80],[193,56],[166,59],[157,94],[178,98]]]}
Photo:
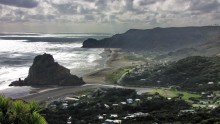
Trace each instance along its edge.
{"label": "dark trees surrounding the white-roofed houses in the bottom foreground", "polygon": [[[120,104],[126,102],[126,99],[140,99],[138,102],[131,104]],[[190,109],[191,106],[184,100],[179,98],[167,99],[159,94],[143,94],[137,95],[136,91],[129,89],[99,89],[91,92],[90,95],[77,101],[77,105],[69,103],[67,109],[57,108],[46,109],[48,123],[66,124],[69,117],[73,124],[101,124],[105,119],[114,119],[110,114],[117,114],[117,119],[122,119],[122,123],[153,123],[153,122],[175,122],[180,110]],[[113,104],[118,104],[114,106]],[[106,108],[108,105],[109,108]],[[145,117],[135,117],[123,119],[132,113],[148,113]],[[98,119],[99,115],[103,115],[104,119]]]}

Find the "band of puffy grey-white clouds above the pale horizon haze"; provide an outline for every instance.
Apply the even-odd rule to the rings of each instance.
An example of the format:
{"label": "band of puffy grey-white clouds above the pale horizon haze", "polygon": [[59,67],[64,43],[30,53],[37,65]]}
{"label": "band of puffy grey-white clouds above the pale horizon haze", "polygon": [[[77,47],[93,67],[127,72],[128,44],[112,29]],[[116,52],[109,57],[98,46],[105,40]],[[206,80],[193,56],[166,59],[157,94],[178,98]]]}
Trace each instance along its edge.
{"label": "band of puffy grey-white clouds above the pale horizon haze", "polygon": [[219,0],[0,0],[0,23],[167,27],[213,24],[219,13]]}

